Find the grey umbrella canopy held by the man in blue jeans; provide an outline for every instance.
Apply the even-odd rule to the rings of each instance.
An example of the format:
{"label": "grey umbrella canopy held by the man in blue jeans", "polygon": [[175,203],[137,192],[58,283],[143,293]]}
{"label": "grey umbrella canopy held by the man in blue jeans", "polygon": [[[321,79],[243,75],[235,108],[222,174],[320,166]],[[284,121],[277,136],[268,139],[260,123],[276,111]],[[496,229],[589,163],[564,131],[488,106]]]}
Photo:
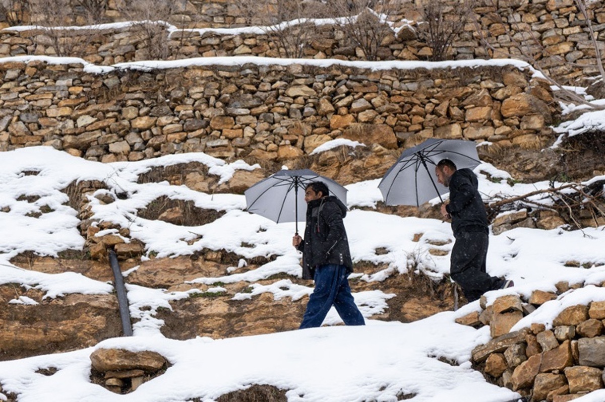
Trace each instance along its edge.
{"label": "grey umbrella canopy held by the man in blue jeans", "polygon": [[298,216],[305,216],[307,210],[304,190],[312,181],[325,183],[330,195],[335,195],[347,205],[347,189],[313,170],[301,169],[280,170],[247,189],[244,192],[246,209],[277,223],[296,222],[298,233]]}

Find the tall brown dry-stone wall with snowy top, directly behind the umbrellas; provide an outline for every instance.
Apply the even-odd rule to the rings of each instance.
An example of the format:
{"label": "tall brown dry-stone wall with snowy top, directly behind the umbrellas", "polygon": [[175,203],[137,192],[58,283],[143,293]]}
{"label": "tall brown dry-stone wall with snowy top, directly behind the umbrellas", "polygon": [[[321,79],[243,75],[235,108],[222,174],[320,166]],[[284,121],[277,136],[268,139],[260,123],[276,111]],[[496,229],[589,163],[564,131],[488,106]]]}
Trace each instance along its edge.
{"label": "tall brown dry-stone wall with snowy top, directly behind the umbrellas", "polygon": [[283,161],[334,138],[385,149],[428,137],[539,148],[557,109],[514,66],[370,71],[341,65],[188,66],[87,73],[0,64],[0,150],[48,145],[90,160],[180,152]]}

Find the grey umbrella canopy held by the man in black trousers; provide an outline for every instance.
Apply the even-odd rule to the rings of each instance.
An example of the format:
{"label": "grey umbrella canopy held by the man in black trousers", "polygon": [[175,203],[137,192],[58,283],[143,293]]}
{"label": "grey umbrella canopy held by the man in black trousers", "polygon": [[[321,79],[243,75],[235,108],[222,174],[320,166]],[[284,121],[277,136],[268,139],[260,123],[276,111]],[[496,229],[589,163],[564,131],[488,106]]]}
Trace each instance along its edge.
{"label": "grey umbrella canopy held by the man in black trousers", "polygon": [[420,206],[441,198],[448,192],[435,177],[435,166],[442,159],[453,161],[457,169],[474,169],[481,163],[474,141],[429,138],[406,149],[382,177],[378,188],[385,204]]}

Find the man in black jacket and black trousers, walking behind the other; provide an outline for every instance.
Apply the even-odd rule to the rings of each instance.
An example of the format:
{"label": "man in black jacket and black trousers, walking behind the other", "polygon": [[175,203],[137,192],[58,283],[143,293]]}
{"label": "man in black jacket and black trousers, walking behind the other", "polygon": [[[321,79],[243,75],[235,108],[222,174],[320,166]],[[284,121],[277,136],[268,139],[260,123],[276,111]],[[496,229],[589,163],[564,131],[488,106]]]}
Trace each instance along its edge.
{"label": "man in black jacket and black trousers, walking behind the other", "polygon": [[483,206],[477,176],[471,169],[456,169],[449,159],[435,167],[437,181],[450,187],[450,203],[442,204],[441,213],[452,220],[456,242],[451,252],[450,274],[462,287],[469,302],[489,290],[508,288],[512,280],[489,276],[485,269],[488,253],[488,217]]}

